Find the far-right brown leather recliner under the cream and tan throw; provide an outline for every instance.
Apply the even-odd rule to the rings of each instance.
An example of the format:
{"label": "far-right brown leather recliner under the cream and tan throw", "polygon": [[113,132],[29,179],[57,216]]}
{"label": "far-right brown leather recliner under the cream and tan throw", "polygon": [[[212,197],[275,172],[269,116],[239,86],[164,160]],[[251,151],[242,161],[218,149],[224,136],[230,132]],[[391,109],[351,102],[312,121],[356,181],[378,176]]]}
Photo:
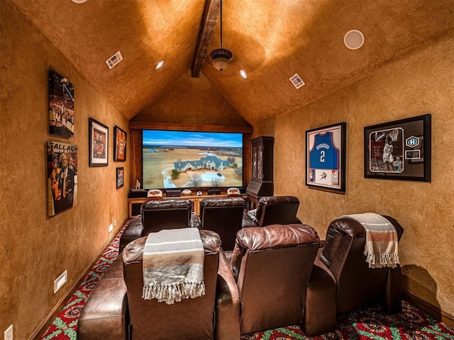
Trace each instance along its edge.
{"label": "far-right brown leather recliner under the cream and tan throw", "polygon": [[[404,233],[402,225],[393,217],[384,217],[394,225],[400,240]],[[365,237],[364,227],[350,217],[338,218],[329,225],[326,240],[323,248],[319,249],[309,281],[307,313],[303,327],[310,329],[309,334],[318,332],[314,323],[319,322],[319,319],[327,319],[326,308],[319,310],[318,306],[321,305],[324,307],[332,305],[331,310],[335,309],[336,314],[350,312],[377,302],[381,302],[389,314],[401,311],[401,268],[399,265],[396,268],[369,268],[363,254]],[[336,295],[319,290],[320,285],[315,283],[321,280],[322,276],[325,277],[325,281],[326,276],[331,276],[336,283]],[[333,312],[329,314],[332,316]]]}

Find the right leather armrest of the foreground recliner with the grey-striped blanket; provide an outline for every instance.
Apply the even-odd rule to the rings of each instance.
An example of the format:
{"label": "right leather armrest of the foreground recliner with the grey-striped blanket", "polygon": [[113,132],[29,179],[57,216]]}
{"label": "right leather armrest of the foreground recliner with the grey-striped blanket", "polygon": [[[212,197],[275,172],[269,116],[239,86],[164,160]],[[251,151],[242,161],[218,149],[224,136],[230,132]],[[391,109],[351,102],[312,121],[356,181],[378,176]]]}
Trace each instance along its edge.
{"label": "right leather armrest of the foreground recliner with the grey-striped blanket", "polygon": [[216,285],[216,340],[240,339],[240,295],[230,263],[219,251]]}

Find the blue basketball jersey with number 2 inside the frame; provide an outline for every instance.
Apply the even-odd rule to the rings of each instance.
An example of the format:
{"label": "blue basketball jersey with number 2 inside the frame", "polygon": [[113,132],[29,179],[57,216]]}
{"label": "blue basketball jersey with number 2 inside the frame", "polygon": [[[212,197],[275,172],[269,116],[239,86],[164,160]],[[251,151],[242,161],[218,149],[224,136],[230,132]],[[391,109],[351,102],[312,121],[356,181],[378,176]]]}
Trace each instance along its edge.
{"label": "blue basketball jersey with number 2 inside the frame", "polygon": [[339,150],[333,145],[333,132],[314,137],[314,147],[309,151],[310,169],[339,169]]}

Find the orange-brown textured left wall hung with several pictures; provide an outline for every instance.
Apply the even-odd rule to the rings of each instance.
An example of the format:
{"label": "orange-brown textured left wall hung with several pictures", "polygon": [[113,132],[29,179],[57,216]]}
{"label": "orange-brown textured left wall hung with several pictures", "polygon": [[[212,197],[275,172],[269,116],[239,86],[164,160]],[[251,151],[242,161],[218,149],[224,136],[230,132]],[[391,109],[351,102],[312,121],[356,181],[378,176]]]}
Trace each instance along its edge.
{"label": "orange-brown textured left wall hung with several pictures", "polygon": [[[14,325],[15,339],[28,339],[47,314],[79,280],[128,216],[126,194],[116,190],[113,126],[126,130],[126,118],[65,60],[57,49],[1,1],[0,113],[0,331]],[[69,33],[67,43],[71,42]],[[104,65],[105,66],[105,65]],[[48,69],[75,85],[74,137],[48,135]],[[108,69],[106,67],[106,72]],[[109,166],[88,166],[88,118],[109,126]],[[47,217],[48,140],[79,147],[78,203]],[[53,280],[68,271],[68,282],[53,294]]]}

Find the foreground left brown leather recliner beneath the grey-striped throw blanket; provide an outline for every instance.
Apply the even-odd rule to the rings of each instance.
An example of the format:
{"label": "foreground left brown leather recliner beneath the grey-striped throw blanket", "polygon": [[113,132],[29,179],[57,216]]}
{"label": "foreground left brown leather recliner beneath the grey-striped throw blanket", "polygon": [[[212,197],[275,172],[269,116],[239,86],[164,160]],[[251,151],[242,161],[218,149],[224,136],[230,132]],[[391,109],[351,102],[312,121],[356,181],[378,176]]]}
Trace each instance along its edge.
{"label": "foreground left brown leather recliner beneath the grey-striped throw blanket", "polygon": [[[219,261],[226,266],[218,234],[201,230],[205,249],[204,283],[206,293],[202,297],[182,300],[173,305],[157,300],[143,300],[143,248],[146,237],[137,239],[123,251],[123,268],[128,289],[128,308],[131,317],[130,336],[140,339],[215,339],[216,283]],[[220,253],[222,255],[220,255]],[[223,273],[226,273],[224,270]],[[220,276],[222,273],[219,274]],[[233,291],[223,295],[221,310],[224,318],[216,339],[239,339],[238,298]]]}

